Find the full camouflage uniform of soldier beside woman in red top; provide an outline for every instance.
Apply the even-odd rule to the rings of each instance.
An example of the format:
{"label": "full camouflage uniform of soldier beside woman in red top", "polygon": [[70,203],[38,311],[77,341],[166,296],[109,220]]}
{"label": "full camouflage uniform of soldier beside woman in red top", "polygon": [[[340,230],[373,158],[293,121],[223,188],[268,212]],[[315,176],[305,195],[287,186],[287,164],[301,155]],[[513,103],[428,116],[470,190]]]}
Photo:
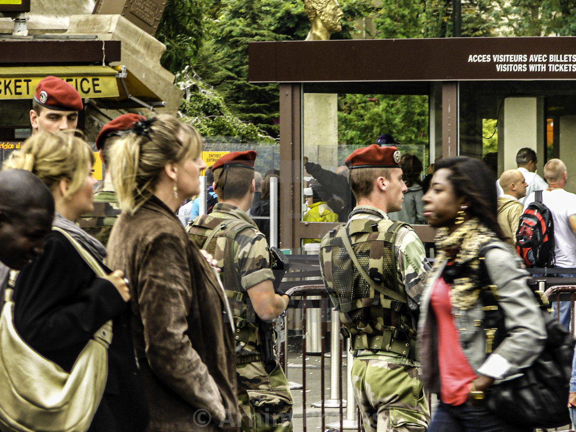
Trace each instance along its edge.
{"label": "full camouflage uniform of soldier beside woman in red top", "polygon": [[[387,222],[389,220],[384,212],[374,207],[362,206],[356,207],[347,226],[350,227],[352,221],[365,221],[369,224],[374,221],[369,226],[374,230],[373,236],[378,236],[381,235],[378,233],[386,232],[392,225],[392,221]],[[334,291],[335,285],[330,280],[334,259],[328,245],[331,235],[334,236],[334,233],[328,233],[320,245],[321,270],[329,294],[336,308],[340,310],[342,322],[352,334],[352,382],[364,429],[366,432],[425,431],[430,420],[430,410],[422,381],[418,377],[418,363],[414,359],[415,320],[406,312],[406,306],[413,312],[418,308],[425,275],[430,270],[422,242],[414,230],[402,226],[393,237],[393,257],[389,257],[391,262],[395,259],[396,268],[386,269],[386,251],[378,253],[370,249],[372,234],[367,234],[367,238],[360,238],[355,237],[358,234],[352,233],[353,249],[363,270],[378,286],[396,286],[393,290],[405,296],[407,304],[393,301],[391,297],[370,288],[353,265],[350,268],[338,263],[339,268],[334,268],[334,277],[348,278],[348,293],[367,289],[358,300],[346,304],[346,300],[342,300],[340,294]],[[389,255],[392,255],[391,249],[392,247],[389,248]],[[351,263],[351,260],[346,258],[349,255],[346,251],[343,252],[340,253],[343,262]],[[391,281],[393,275],[396,275],[397,283]],[[366,294],[368,291],[370,295]],[[387,305],[388,309],[382,305]],[[400,306],[404,306],[404,309]],[[404,310],[404,313],[398,312],[400,310]],[[366,349],[368,347],[374,349]]]}

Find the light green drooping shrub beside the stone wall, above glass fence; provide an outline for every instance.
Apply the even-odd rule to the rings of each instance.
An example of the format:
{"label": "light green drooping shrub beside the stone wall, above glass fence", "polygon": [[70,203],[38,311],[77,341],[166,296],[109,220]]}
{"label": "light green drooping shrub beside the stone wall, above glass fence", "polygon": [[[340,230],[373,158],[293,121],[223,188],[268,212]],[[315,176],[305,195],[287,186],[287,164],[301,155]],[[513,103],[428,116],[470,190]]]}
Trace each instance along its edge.
{"label": "light green drooping shrub beside the stone wall, above glass fence", "polygon": [[203,137],[229,137],[237,142],[259,141],[275,143],[265,131],[254,124],[243,122],[226,107],[222,96],[202,82],[198,75],[191,76],[185,69],[176,77],[177,85],[185,89],[186,98],[180,104],[182,121],[192,124]]}

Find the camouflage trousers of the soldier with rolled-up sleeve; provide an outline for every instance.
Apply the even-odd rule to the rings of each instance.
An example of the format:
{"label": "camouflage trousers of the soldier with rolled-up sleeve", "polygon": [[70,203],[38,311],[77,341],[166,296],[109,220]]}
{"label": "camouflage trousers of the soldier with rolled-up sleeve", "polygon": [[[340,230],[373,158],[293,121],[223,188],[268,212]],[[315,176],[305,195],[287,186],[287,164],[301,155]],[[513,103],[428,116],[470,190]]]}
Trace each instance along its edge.
{"label": "camouflage trousers of the soldier with rolled-up sleeve", "polygon": [[291,432],[292,406],[288,380],[276,361],[268,374],[261,361],[236,365],[238,408],[244,432]]}

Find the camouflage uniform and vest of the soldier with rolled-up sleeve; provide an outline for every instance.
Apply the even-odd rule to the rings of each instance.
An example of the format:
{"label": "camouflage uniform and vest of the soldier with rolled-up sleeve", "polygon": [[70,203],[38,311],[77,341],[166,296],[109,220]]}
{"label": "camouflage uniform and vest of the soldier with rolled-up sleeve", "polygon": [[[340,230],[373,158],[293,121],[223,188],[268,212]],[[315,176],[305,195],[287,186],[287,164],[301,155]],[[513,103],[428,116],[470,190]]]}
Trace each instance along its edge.
{"label": "camouflage uniform and vest of the soldier with rolled-up sleeve", "polygon": [[[270,249],[264,235],[248,215],[231,204],[218,203],[209,215],[201,215],[188,225],[191,238],[203,247],[203,241],[196,237],[197,233],[206,233],[205,225],[210,225],[215,219],[237,219],[249,223],[247,228],[241,229],[232,244],[234,267],[232,271],[240,280],[243,294],[251,287],[264,281],[274,280],[270,270]],[[219,224],[218,224],[219,226]],[[206,237],[204,237],[205,239]],[[226,237],[217,237],[215,249],[208,249],[218,260],[218,267],[222,269],[222,278],[227,281],[225,274]],[[229,253],[229,252],[228,252]],[[233,310],[237,324],[237,363],[236,373],[238,379],[238,405],[242,413],[242,430],[257,432],[290,432],[292,430],[292,405],[294,400],[290,394],[288,380],[278,360],[275,360],[274,369],[268,373],[260,360],[259,336],[256,331],[253,317],[247,313],[247,319],[238,320],[238,310],[253,310],[249,305],[248,295],[238,295],[229,283],[225,282],[226,294],[229,297],[230,307]],[[238,306],[237,302],[244,301]],[[248,336],[249,334],[249,336]]]}

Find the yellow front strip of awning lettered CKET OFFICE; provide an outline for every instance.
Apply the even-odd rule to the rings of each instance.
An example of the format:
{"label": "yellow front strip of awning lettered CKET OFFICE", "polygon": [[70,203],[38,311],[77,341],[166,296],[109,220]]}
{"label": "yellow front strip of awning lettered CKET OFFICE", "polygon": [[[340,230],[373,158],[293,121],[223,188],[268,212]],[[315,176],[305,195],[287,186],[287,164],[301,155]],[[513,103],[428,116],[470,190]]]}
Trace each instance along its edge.
{"label": "yellow front strip of awning lettered CKET OFFICE", "polygon": [[0,100],[32,99],[36,85],[48,75],[69,82],[82,98],[118,97],[116,74],[108,66],[0,67]]}

